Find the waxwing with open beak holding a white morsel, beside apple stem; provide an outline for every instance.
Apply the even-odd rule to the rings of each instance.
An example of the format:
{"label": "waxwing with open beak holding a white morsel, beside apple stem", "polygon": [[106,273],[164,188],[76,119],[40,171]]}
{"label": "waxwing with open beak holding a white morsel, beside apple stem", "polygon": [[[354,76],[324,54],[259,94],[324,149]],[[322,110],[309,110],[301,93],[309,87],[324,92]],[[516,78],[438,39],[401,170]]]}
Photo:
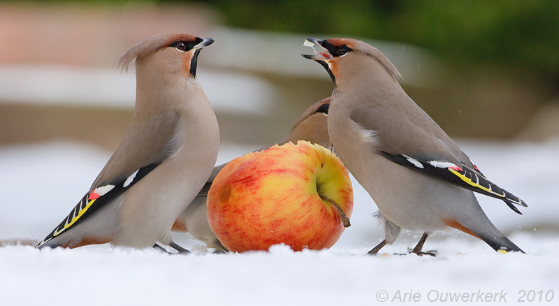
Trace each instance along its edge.
{"label": "waxwing with open beak holding a white morsel, beside apple stem", "polygon": [[[384,240],[402,228],[423,232],[411,253],[422,252],[435,231],[456,228],[498,252],[523,252],[496,228],[474,192],[498,198],[511,210],[527,207],[489,181],[470,158],[402,89],[398,69],[377,48],[352,38],[307,38],[314,54],[301,54],[326,68],[334,82],[328,135],[349,172],[377,204]],[[317,49],[314,49],[317,47]]]}

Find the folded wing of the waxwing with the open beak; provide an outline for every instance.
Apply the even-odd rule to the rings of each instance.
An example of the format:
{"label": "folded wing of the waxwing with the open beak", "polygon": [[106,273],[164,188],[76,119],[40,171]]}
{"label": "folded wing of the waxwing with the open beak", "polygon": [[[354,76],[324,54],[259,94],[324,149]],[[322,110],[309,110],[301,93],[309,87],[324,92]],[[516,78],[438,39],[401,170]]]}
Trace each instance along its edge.
{"label": "folded wing of the waxwing with the open beak", "polygon": [[392,123],[383,122],[386,116],[390,117],[390,113],[361,108],[350,115],[365,132],[374,131],[368,134],[377,138],[375,142],[379,145],[375,148],[375,153],[445,182],[498,198],[518,214],[521,212],[514,205],[527,207],[520,198],[487,180],[467,155],[424,112],[414,114],[413,119],[399,116],[403,119],[393,118]]}

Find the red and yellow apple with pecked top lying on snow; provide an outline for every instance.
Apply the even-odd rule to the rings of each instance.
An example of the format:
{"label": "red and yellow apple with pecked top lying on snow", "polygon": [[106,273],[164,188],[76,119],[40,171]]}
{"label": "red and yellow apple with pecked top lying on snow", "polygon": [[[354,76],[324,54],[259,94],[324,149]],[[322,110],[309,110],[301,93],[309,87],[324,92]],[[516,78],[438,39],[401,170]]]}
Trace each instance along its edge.
{"label": "red and yellow apple with pecked top lying on snow", "polygon": [[342,161],[299,140],[230,161],[208,191],[208,222],[231,252],[325,249],[349,226],[353,201]]}

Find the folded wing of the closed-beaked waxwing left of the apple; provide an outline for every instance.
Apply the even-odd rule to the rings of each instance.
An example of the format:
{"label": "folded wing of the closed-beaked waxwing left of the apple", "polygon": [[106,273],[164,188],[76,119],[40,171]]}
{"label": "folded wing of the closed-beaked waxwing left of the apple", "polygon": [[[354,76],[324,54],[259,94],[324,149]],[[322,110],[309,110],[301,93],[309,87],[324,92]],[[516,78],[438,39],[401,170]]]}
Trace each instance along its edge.
{"label": "folded wing of the closed-beaked waxwing left of the apple", "polygon": [[101,170],[92,188],[38,247],[68,228],[80,224],[170,156],[174,150],[173,134],[178,119],[178,115],[172,111],[155,115],[143,122],[133,119],[122,143]]}

